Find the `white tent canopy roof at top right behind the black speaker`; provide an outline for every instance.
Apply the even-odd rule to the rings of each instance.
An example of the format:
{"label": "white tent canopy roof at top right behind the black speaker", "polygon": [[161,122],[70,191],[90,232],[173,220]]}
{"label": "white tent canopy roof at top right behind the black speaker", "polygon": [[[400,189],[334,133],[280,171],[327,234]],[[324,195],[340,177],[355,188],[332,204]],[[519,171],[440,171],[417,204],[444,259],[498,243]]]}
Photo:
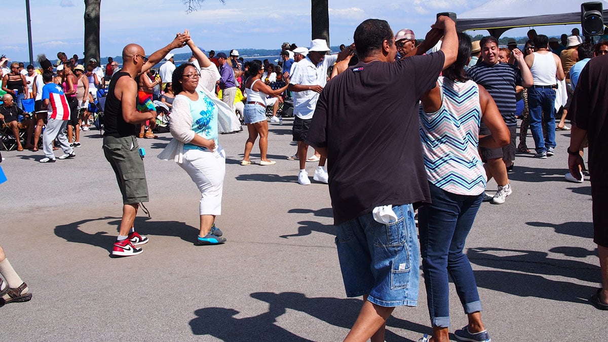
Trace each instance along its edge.
{"label": "white tent canopy roof at top right behind the black speaker", "polygon": [[[608,1],[603,3],[604,23],[608,18]],[[581,23],[581,3],[573,0],[491,0],[479,7],[457,14],[460,31],[488,30],[500,37],[515,27],[568,25]]]}

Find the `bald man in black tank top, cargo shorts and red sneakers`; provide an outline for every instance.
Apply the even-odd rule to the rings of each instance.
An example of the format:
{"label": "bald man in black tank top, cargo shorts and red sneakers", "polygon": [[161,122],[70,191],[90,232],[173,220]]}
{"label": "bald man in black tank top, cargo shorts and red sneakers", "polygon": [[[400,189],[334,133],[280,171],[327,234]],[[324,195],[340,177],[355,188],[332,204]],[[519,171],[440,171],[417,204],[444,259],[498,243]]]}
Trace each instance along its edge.
{"label": "bald man in black tank top, cargo shorts and red sneakers", "polygon": [[105,105],[103,154],[116,173],[123,201],[119,236],[114,243],[112,256],[135,256],[142,253],[142,248],[137,246],[148,242],[148,238],[137,234],[133,227],[139,203],[148,201],[144,153],[140,153],[137,144],[136,128],[137,124],[156,120],[156,117],[151,111],[137,111],[135,77],[148,71],[171,50],[184,46],[189,39],[188,31],[184,30],[150,58],[145,57],[141,46],[128,44],[122,50],[122,69],[112,75]]}

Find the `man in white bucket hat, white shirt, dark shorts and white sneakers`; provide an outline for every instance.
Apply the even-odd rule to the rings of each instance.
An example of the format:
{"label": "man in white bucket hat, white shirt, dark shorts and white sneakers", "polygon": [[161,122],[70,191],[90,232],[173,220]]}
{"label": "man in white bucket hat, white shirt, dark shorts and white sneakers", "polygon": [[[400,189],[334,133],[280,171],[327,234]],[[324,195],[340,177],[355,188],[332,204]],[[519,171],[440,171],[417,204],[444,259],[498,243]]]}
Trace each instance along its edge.
{"label": "man in white bucket hat, white shirt, dark shorts and white sneakers", "polygon": [[[298,183],[309,185],[308,173],[306,173],[306,154],[308,145],[304,143],[308,127],[313,119],[314,108],[317,105],[319,94],[327,83],[327,69],[337,61],[343,60],[349,53],[344,49],[338,55],[325,55],[330,48],[323,39],[311,41],[308,56],[298,63],[294,63],[289,81],[289,91],[294,97],[294,127],[292,130],[293,141],[298,142],[298,158],[300,161],[300,173]],[[328,174],[325,170],[326,158],[319,158],[319,167],[314,172],[313,179],[322,183],[328,183]]]}

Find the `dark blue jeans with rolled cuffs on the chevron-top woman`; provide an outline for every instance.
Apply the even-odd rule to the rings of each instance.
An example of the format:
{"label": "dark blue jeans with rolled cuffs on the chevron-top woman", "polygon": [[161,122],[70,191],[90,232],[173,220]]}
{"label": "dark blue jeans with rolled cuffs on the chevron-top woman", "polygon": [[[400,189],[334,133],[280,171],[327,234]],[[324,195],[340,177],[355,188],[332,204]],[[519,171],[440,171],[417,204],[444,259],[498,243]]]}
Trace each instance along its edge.
{"label": "dark blue jeans with rolled cuffs on the chevron-top woman", "polygon": [[449,327],[449,272],[465,313],[482,310],[471,263],[462,253],[482,195],[456,195],[429,183],[432,204],[418,209],[418,232],[430,323]]}

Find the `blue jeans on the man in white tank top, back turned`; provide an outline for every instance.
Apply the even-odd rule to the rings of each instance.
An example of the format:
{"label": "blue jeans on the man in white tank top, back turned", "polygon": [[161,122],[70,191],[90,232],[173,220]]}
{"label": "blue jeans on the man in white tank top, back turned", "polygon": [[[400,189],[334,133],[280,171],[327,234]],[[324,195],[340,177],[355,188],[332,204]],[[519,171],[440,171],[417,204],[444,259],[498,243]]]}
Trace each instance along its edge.
{"label": "blue jeans on the man in white tank top, back turned", "polygon": [[[555,89],[528,88],[528,108],[530,108],[530,131],[536,152],[543,152],[547,147],[555,147]],[[547,140],[542,135],[542,117],[547,124]]]}

